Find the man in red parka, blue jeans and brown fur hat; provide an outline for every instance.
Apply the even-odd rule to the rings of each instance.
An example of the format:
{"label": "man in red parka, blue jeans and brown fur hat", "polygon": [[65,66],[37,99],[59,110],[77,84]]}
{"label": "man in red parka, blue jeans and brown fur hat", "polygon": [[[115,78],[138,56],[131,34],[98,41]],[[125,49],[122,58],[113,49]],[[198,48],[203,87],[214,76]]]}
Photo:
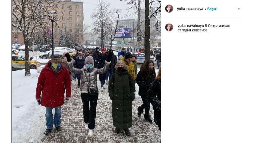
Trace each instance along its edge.
{"label": "man in red parka, blue jeans and brown fur hat", "polygon": [[[71,96],[71,81],[67,68],[61,63],[59,55],[53,55],[52,60],[46,63],[37,82],[36,100],[46,109],[46,126],[44,134],[47,136],[52,130],[53,123],[57,132],[61,132],[61,105]],[[42,97],[41,97],[42,92]],[[52,109],[55,109],[54,118]]]}

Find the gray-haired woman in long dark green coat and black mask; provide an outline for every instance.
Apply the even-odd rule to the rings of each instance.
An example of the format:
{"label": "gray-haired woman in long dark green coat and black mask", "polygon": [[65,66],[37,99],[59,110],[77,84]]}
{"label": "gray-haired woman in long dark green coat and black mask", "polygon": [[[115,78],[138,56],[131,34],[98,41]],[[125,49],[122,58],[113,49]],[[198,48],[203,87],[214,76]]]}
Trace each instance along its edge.
{"label": "gray-haired woman in long dark green coat and black mask", "polygon": [[115,65],[115,73],[109,80],[109,97],[112,100],[114,133],[124,130],[131,136],[129,128],[132,127],[132,101],[135,98],[135,81],[128,73],[126,65],[121,60]]}

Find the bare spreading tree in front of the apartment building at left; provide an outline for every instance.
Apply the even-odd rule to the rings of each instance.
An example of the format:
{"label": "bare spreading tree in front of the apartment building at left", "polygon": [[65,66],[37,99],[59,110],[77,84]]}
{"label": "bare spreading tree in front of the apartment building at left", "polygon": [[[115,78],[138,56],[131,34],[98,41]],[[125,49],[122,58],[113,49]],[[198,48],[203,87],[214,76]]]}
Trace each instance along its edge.
{"label": "bare spreading tree in front of the apartment building at left", "polygon": [[47,29],[49,23],[48,12],[57,8],[56,3],[57,1],[52,0],[12,1],[12,28],[21,31],[24,39],[25,76],[30,75],[28,43],[34,35],[45,35],[43,29]]}

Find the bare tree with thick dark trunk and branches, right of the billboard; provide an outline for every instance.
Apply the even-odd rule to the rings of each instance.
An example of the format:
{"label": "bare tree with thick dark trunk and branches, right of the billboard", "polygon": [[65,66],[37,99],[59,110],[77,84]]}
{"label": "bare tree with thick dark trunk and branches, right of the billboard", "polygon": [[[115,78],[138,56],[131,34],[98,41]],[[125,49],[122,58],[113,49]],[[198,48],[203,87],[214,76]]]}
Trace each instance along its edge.
{"label": "bare tree with thick dark trunk and branches, right of the billboard", "polygon": [[[131,8],[135,8],[138,10],[138,2],[136,0],[120,0],[127,1],[127,4],[130,4]],[[152,5],[156,5],[156,10],[153,11],[151,15],[149,15],[149,11],[151,10]],[[145,60],[150,60],[150,19],[152,17],[158,18],[156,21],[156,29],[159,29],[159,18],[161,16],[161,0],[145,0],[145,36],[144,36],[144,44],[145,44]],[[141,23],[144,21],[141,21]]]}

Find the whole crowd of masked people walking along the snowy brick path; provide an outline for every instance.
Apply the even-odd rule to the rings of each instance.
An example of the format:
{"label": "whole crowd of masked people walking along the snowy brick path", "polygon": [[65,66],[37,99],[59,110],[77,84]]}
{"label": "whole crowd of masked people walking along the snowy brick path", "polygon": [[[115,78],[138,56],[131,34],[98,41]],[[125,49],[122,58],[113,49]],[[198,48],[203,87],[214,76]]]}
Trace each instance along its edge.
{"label": "whole crowd of masked people walking along the snowy brick path", "polygon": [[104,92],[106,89],[112,100],[114,133],[118,134],[124,130],[127,136],[131,136],[129,128],[132,127],[132,101],[135,99],[136,83],[143,104],[138,106],[135,116],[141,117],[144,112],[144,121],[153,124],[149,114],[152,104],[154,121],[161,131],[161,51],[156,53],[159,69],[156,75],[152,60],[146,60],[137,72],[137,57],[126,50],[122,48],[117,57],[111,48],[80,48],[73,53],[64,52],[62,57],[51,57],[40,72],[36,88],[36,100],[46,109],[46,136],[53,129],[53,124],[58,133],[62,130],[61,106],[64,104],[65,93],[65,100],[68,101],[71,97],[72,80],[77,80],[77,88],[80,89],[83,119],[88,136],[94,135],[99,91]]}

